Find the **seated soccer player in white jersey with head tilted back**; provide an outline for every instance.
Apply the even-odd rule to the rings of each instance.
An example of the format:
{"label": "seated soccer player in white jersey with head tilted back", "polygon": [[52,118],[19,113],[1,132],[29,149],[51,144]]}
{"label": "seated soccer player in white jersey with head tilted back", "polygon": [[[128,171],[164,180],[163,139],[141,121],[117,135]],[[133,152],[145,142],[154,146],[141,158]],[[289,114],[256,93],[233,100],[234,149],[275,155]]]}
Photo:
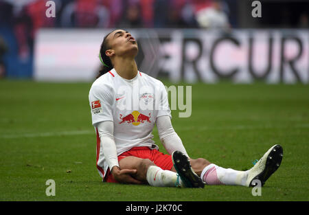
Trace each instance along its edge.
{"label": "seated soccer player in white jersey with head tilted back", "polygon": [[[137,69],[137,41],[125,30],[104,37],[104,65],[89,91],[92,123],[97,135],[97,168],[103,181],[152,186],[204,188],[204,185],[264,185],[279,168],[283,150],[271,147],[247,171],[222,168],[206,159],[192,159],[174,131],[163,83]],[[159,139],[168,155],[152,140]]]}

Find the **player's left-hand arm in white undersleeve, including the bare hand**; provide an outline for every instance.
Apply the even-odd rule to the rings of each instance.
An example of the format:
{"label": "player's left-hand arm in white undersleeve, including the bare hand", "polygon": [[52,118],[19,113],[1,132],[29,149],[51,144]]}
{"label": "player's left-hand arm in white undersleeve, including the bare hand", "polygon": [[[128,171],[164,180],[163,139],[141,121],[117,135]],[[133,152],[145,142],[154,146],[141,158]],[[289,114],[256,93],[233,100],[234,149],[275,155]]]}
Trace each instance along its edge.
{"label": "player's left-hand arm in white undersleeve, including the bare hand", "polygon": [[113,122],[104,121],[98,123],[98,133],[102,144],[103,155],[108,163],[108,167],[113,177],[119,183],[141,183],[132,176],[137,170],[121,170],[117,159],[117,148],[113,138]]}

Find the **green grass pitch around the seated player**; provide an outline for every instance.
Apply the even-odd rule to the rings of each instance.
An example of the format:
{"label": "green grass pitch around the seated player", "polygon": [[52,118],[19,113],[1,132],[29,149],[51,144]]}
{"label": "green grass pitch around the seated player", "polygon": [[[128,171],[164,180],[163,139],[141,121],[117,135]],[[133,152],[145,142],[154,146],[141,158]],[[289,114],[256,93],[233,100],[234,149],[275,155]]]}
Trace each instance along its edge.
{"label": "green grass pitch around the seated player", "polygon": [[[164,82],[166,86],[171,83]],[[95,168],[91,83],[0,81],[1,201],[308,201],[309,85],[192,84],[192,115],[172,124],[192,158],[247,170],[274,144],[280,168],[251,188],[154,188],[102,183]],[[157,135],[155,142],[166,152]],[[46,196],[54,179],[56,196]]]}

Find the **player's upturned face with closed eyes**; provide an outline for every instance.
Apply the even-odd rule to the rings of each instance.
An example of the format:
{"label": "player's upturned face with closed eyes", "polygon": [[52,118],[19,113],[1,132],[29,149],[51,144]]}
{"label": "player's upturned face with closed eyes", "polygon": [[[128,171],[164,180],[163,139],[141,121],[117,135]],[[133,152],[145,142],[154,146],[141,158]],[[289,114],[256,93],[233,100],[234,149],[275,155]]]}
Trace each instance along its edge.
{"label": "player's upturned face with closed eyes", "polygon": [[115,56],[137,55],[138,47],[135,38],[124,30],[115,30],[108,35],[108,43]]}

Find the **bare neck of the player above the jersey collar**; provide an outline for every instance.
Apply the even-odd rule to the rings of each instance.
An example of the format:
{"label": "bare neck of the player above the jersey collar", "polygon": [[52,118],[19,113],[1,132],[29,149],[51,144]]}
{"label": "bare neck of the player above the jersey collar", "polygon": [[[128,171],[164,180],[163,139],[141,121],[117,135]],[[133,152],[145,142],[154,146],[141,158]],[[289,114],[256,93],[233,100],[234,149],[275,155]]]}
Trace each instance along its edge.
{"label": "bare neck of the player above the jersey collar", "polygon": [[118,60],[119,63],[115,63],[115,70],[118,75],[128,80],[137,76],[137,65],[134,58],[122,58]]}

